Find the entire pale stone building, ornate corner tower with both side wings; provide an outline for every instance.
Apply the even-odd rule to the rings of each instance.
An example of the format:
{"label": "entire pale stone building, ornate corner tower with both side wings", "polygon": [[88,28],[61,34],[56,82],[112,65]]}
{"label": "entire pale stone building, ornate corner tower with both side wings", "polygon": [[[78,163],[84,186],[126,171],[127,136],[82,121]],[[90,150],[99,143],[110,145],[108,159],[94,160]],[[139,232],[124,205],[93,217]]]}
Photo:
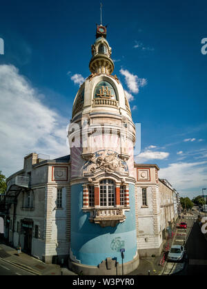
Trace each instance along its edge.
{"label": "entire pale stone building, ornate corner tower with both side wings", "polygon": [[8,178],[5,236],[48,263],[83,275],[128,274],[159,255],[177,219],[177,192],[156,164],[135,164],[135,124],[106,40],[97,26],[90,76],[68,129],[70,156],[24,158]]}

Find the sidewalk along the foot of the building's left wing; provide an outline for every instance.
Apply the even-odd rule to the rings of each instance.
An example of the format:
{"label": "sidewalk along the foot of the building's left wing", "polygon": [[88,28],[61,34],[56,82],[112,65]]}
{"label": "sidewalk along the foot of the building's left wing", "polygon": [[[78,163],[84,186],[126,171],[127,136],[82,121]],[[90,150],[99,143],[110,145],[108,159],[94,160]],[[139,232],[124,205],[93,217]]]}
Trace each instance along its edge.
{"label": "sidewalk along the foot of the building's left wing", "polygon": [[0,259],[34,275],[75,275],[67,268],[61,268],[61,266],[54,264],[45,264],[25,253],[18,255],[16,249],[3,244],[3,242],[0,242]]}

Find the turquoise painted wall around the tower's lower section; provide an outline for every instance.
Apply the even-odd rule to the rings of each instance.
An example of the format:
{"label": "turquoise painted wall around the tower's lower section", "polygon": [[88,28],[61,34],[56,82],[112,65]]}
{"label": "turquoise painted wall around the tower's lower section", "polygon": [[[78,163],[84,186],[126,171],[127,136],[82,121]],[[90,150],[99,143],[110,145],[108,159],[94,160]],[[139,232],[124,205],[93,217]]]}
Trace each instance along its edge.
{"label": "turquoise painted wall around the tower's lower section", "polygon": [[98,266],[107,257],[121,264],[120,248],[125,248],[124,263],[132,261],[137,251],[135,221],[135,186],[130,185],[130,211],[126,220],[115,228],[101,228],[90,223],[90,213],[83,213],[83,187],[71,186],[71,250],[81,264]]}

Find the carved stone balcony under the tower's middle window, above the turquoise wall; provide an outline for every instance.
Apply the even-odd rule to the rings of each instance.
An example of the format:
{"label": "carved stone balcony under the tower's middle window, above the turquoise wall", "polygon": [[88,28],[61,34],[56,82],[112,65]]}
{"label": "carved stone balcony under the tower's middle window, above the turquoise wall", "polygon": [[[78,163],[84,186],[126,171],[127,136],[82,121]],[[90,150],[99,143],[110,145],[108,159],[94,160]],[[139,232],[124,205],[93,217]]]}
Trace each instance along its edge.
{"label": "carved stone balcony under the tower's middle window, above the turquoise wall", "polygon": [[115,227],[126,219],[122,208],[95,208],[90,215],[90,222],[99,224],[101,227]]}

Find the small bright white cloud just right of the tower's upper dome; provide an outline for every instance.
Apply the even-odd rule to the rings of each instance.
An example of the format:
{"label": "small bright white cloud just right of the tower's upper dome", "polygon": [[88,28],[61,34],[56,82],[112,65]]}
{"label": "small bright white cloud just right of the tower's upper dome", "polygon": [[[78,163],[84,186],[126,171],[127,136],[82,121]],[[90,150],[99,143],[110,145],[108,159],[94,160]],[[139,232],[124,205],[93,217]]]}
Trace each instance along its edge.
{"label": "small bright white cloud just right of the tower's upper dome", "polygon": [[130,92],[139,93],[139,87],[144,87],[147,84],[145,78],[139,78],[137,75],[131,74],[127,69],[120,69],[120,73],[125,77],[126,85]]}

